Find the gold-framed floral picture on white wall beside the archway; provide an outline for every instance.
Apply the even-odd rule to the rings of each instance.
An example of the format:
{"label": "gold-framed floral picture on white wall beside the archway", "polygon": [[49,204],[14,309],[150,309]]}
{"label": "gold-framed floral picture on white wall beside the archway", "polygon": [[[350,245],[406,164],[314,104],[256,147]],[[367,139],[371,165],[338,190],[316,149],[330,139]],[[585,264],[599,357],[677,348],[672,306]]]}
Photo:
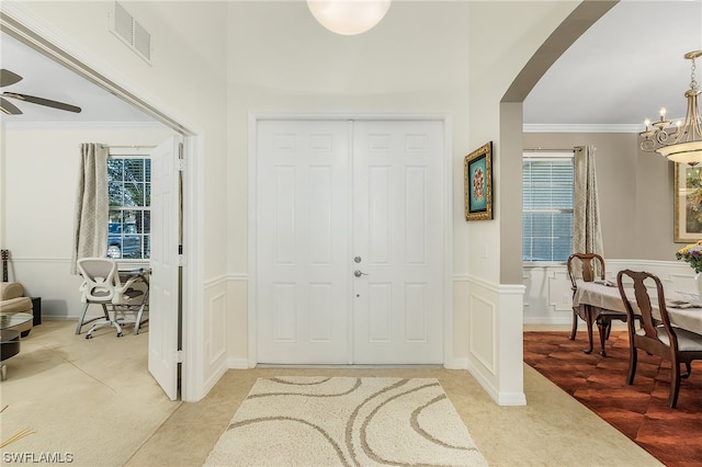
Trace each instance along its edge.
{"label": "gold-framed floral picture on white wall beside the archway", "polygon": [[492,141],[480,146],[463,161],[466,220],[492,218]]}

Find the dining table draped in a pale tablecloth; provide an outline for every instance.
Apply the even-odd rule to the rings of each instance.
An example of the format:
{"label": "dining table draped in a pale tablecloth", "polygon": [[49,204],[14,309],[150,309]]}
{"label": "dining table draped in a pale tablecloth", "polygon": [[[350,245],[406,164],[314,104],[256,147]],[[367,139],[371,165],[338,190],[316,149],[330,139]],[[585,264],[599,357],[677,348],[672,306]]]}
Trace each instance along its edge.
{"label": "dining table draped in a pale tablecloth", "polygon": [[[673,292],[666,294],[666,299],[689,300],[690,295],[691,294]],[[655,297],[656,291],[652,291],[650,299],[654,317],[658,314],[658,306],[657,301],[655,301]],[[597,319],[598,309],[600,308],[621,312],[626,311],[618,287],[596,284],[595,282],[578,281],[576,283],[576,292],[573,296],[573,306],[579,307],[580,305],[590,305],[593,307],[591,316],[592,320]],[[632,305],[634,311],[636,311],[636,304],[632,303]],[[668,310],[671,324],[702,334],[702,308],[672,308],[668,306],[666,309]]]}

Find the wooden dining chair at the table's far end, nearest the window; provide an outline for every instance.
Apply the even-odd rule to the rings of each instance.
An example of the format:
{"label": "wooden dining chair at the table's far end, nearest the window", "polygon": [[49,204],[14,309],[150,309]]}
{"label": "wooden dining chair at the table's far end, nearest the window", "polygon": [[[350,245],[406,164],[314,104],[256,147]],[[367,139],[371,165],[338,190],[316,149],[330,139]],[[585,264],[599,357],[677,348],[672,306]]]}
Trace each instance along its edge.
{"label": "wooden dining chair at the table's far end, nearest the window", "polygon": [[[567,261],[568,277],[573,294],[577,291],[577,281],[585,282],[605,281],[607,269],[604,259],[597,253],[573,253]],[[604,343],[610,338],[612,331],[612,320],[626,321],[626,314],[604,308],[597,308],[591,305],[580,305],[573,307],[573,330],[570,340],[575,341],[578,331],[578,318],[582,319],[588,327],[588,349],[585,353],[592,353],[592,323],[596,322],[600,331],[600,354],[607,356]]]}

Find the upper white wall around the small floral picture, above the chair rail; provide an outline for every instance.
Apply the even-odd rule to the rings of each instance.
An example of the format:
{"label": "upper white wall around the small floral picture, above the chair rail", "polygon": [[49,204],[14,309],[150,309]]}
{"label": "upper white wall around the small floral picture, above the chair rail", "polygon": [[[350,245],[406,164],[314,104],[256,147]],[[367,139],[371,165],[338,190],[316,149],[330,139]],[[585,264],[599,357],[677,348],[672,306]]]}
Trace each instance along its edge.
{"label": "upper white wall around the small floral picture, above the chair rail", "polygon": [[[521,187],[501,183],[502,166],[508,160],[521,159],[521,153],[505,153],[500,145],[500,101],[517,75],[521,71],[534,52],[548,37],[553,30],[573,11],[578,2],[469,2],[471,16],[469,49],[465,55],[469,60],[469,76],[466,83],[471,96],[469,119],[465,126],[456,126],[463,136],[462,146],[456,149],[464,156],[492,140],[495,160],[494,176],[496,186],[496,221],[456,223],[456,237],[467,238],[460,244],[456,267],[461,272],[482,277],[492,283],[500,281],[500,241],[503,236],[514,236],[516,231],[500,229],[500,206],[521,200]],[[503,160],[505,159],[505,160]],[[462,186],[461,171],[456,167],[456,183]],[[458,178],[461,175],[461,178]],[[456,197],[456,206],[463,206],[463,200]],[[485,252],[487,251],[487,255]],[[487,257],[487,258],[486,258]]]}

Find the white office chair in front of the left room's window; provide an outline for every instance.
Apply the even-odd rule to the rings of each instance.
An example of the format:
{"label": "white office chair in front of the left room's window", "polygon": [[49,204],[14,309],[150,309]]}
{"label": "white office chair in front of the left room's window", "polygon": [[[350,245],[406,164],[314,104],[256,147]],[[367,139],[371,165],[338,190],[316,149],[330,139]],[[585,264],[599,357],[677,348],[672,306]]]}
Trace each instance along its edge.
{"label": "white office chair in front of the left room's window", "polygon": [[[147,294],[133,286],[141,282],[141,276],[129,277],[122,284],[116,261],[107,258],[82,258],[78,260],[77,266],[83,276],[83,283],[79,291],[82,294],[81,301],[86,304],[86,308],[76,327],[76,334],[80,334],[82,327],[93,321],[95,323],[86,334],[86,339],[92,339],[93,331],[105,327],[114,327],[117,330],[117,338],[120,338],[122,337],[122,326],[127,322],[135,324],[134,333],[136,334],[141,323]],[[134,299],[139,296],[143,296],[141,300],[135,303]],[[86,320],[88,307],[91,304],[101,305],[103,316]],[[107,305],[110,305],[110,309],[107,309]],[[128,318],[126,312],[135,316]]]}

